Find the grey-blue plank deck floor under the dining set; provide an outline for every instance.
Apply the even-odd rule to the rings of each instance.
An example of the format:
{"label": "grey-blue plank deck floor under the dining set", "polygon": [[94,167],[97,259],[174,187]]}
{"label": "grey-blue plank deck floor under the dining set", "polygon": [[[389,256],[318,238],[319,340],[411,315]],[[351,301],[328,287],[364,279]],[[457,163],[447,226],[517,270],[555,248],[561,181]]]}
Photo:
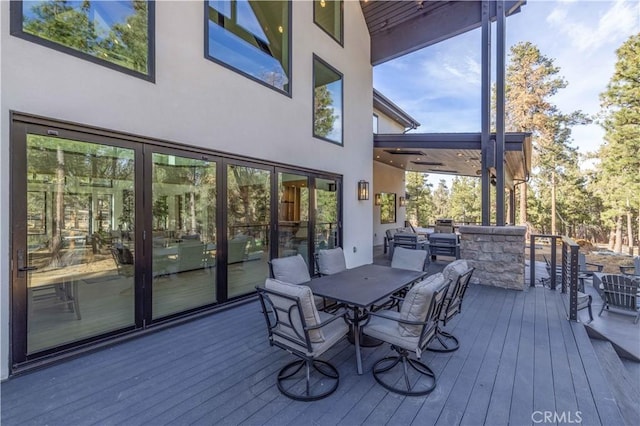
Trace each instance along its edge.
{"label": "grey-blue plank deck floor under the dining set", "polygon": [[[8,425],[622,425],[587,333],[566,319],[559,292],[472,285],[448,326],[461,347],[423,356],[438,385],[426,397],[379,386],[373,363],[388,345],[363,348],[355,372],[346,340],[328,358],[340,386],[304,403],[282,396],[279,368],[257,301],[141,336],[2,383]],[[548,423],[548,422],[547,422]],[[546,424],[546,423],[545,423]]]}

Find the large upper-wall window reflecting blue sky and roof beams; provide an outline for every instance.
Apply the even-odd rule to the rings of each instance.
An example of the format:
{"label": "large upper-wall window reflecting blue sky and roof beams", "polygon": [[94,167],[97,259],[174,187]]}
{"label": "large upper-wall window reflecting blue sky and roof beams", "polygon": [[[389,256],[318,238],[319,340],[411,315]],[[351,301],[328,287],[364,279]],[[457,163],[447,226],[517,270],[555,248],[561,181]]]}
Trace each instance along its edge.
{"label": "large upper-wall window reflecting blue sky and roof beams", "polygon": [[205,8],[206,57],[291,93],[290,2],[212,0]]}

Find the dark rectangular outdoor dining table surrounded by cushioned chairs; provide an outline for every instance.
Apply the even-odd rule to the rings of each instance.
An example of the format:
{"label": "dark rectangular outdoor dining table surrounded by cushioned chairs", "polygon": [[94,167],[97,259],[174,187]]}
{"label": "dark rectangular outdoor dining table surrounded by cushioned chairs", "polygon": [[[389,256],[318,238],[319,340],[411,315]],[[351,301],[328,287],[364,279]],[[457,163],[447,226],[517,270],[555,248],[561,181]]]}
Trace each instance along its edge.
{"label": "dark rectangular outdoor dining table surrounded by cushioned chairs", "polygon": [[367,317],[367,311],[376,302],[388,298],[426,274],[423,271],[370,264],[315,278],[307,284],[314,295],[344,303],[353,311],[348,320],[353,326],[358,374],[362,374],[360,322]]}

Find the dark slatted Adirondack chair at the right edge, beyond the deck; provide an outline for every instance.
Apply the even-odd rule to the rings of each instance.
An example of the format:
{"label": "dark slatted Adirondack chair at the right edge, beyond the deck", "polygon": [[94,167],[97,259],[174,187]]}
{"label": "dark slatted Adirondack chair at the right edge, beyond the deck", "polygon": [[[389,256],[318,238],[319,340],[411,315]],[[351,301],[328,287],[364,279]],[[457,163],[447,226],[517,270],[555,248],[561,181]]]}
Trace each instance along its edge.
{"label": "dark slatted Adirondack chair at the right edge, beyond the deck", "polygon": [[636,324],[640,318],[640,308],[638,307],[639,287],[640,280],[626,275],[602,276],[604,304],[598,316],[601,316],[605,309],[616,313],[630,313],[635,315],[633,322]]}

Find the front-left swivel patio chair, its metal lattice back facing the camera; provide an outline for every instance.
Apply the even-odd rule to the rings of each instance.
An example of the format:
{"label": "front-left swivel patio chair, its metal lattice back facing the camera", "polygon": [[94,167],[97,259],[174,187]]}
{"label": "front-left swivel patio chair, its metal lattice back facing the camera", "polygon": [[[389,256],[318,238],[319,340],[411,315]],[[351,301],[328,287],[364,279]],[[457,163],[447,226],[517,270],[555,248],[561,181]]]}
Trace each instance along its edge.
{"label": "front-left swivel patio chair, its metal lattice back facing the camera", "polygon": [[264,288],[256,289],[269,344],[299,358],[278,372],[278,390],[298,401],[316,401],[332,394],[340,375],[318,357],[347,335],[349,327],[343,315],[318,312],[313,293],[305,285],[267,279]]}

